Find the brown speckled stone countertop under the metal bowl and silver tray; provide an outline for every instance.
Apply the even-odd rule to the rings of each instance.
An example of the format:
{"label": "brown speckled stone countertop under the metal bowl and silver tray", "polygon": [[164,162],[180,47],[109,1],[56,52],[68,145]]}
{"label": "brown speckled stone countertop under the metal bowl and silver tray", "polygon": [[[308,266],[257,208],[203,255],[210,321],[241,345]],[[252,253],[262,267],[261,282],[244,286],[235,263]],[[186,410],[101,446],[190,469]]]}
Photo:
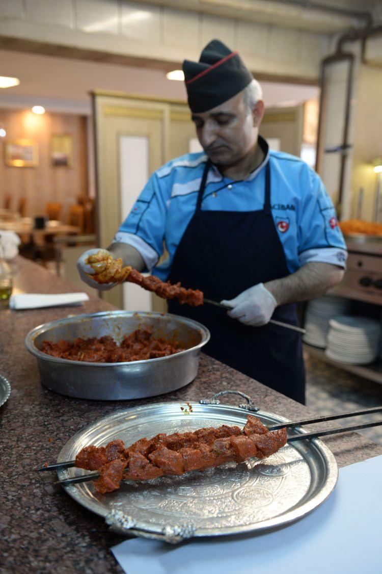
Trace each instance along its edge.
{"label": "brown speckled stone countertop under the metal bowl and silver tray", "polygon": [[[17,258],[15,267],[17,292],[76,290],[26,259]],[[108,532],[102,518],[78,505],[54,484],[56,474],[35,470],[45,461],[54,462],[64,443],[99,417],[149,401],[198,401],[223,389],[241,390],[263,410],[291,419],[314,414],[206,355],[201,355],[193,383],[176,393],[150,400],[85,401],[42,387],[36,359],[24,348],[26,333],[38,324],[69,314],[110,308],[111,305],[93,297],[82,307],[0,310],[0,372],[9,379],[12,389],[9,400],[0,408],[1,572],[121,572],[110,547],[122,538]],[[329,425],[333,423],[326,427],[330,428]],[[337,435],[325,442],[340,466],[382,453],[382,447],[356,433]]]}

